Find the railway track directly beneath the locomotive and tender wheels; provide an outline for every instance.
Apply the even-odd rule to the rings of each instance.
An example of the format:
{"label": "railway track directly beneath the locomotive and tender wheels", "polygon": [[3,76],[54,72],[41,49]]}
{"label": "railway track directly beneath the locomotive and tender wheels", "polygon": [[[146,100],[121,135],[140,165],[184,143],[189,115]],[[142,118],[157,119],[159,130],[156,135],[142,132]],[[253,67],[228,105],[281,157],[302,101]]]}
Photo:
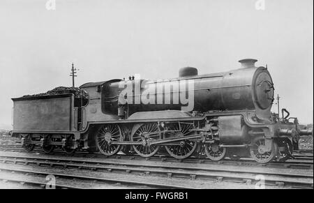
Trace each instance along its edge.
{"label": "railway track directly beneath the locomotive and tender wheels", "polygon": [[[9,146],[3,147],[0,146],[0,151],[12,151],[12,152],[23,152],[26,151],[22,148],[22,146]],[[40,148],[34,149],[31,152],[27,153],[42,153],[43,150]],[[273,161],[272,163],[260,164],[256,163],[251,158],[241,158],[241,160],[230,160],[226,158],[225,160],[220,160],[218,162],[209,160],[207,158],[186,158],[184,160],[177,160],[176,158],[172,158],[169,156],[153,156],[150,158],[143,158],[141,156],[128,156],[124,154],[117,154],[115,156],[103,156],[102,153],[88,153],[87,151],[77,151],[73,154],[66,154],[62,150],[56,149],[50,155],[57,155],[57,156],[71,156],[71,157],[86,157],[86,158],[113,158],[113,159],[123,159],[123,160],[154,160],[160,162],[170,162],[170,163],[207,163],[207,164],[214,164],[214,165],[244,165],[244,166],[261,166],[261,167],[289,167],[289,168],[297,168],[297,169],[312,169],[313,168],[313,158],[311,155],[297,155],[297,159],[294,160],[287,160],[286,162],[276,162]],[[305,159],[303,159],[305,158]]]}

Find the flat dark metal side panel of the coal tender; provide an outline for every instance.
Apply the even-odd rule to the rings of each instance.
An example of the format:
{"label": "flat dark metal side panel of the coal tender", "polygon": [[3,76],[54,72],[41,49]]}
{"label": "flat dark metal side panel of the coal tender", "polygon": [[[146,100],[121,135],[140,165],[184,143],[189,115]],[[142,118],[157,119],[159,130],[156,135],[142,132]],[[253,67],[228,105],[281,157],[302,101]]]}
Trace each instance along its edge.
{"label": "flat dark metal side panel of the coal tender", "polygon": [[73,130],[73,99],[15,100],[14,130]]}

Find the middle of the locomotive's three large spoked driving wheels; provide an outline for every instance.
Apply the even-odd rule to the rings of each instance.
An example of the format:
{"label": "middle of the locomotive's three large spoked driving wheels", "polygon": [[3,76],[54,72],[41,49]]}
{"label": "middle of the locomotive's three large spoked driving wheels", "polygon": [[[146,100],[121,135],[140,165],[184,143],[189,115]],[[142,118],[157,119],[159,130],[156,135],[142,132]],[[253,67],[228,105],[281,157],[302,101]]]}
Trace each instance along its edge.
{"label": "middle of the locomotive's three large spoked driving wheels", "polygon": [[160,140],[162,138],[159,133],[159,127],[157,123],[142,123],[133,127],[131,134],[131,141],[139,142],[134,144],[134,151],[143,157],[154,156],[157,153],[159,146],[151,145],[149,142],[152,140]]}

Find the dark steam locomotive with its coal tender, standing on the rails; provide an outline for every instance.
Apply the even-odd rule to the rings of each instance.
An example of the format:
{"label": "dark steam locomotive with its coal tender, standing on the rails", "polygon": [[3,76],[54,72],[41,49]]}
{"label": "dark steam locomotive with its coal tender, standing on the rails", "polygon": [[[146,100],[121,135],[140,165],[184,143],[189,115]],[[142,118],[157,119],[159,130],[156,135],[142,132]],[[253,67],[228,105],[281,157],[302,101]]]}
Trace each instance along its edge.
{"label": "dark steam locomotive with its coal tender, standing on the rails", "polygon": [[168,80],[89,82],[80,87],[88,98],[71,92],[13,98],[13,136],[27,151],[38,145],[46,153],[59,147],[146,158],[291,158],[299,137],[313,131],[301,129],[285,109],[282,118],[272,113],[269,71],[255,59],[239,62],[241,68],[224,73],[198,75],[186,67]]}

